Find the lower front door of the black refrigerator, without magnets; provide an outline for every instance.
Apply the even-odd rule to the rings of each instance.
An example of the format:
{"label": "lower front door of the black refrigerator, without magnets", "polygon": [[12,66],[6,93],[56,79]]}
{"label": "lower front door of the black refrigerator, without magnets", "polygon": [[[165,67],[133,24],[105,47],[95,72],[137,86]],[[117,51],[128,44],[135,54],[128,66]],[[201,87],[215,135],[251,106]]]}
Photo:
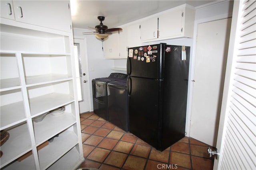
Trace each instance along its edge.
{"label": "lower front door of the black refrigerator, without magnets", "polygon": [[155,148],[160,143],[161,83],[162,80],[128,78],[130,132]]}

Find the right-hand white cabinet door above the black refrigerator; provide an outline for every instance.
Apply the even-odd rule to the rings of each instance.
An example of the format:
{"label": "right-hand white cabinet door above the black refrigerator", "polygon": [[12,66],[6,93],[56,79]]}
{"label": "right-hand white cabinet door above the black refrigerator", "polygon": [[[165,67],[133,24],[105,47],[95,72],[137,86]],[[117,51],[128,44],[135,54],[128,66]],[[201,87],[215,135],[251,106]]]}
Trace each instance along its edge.
{"label": "right-hand white cabinet door above the black refrigerator", "polygon": [[159,16],[159,38],[173,37],[182,34],[182,9]]}

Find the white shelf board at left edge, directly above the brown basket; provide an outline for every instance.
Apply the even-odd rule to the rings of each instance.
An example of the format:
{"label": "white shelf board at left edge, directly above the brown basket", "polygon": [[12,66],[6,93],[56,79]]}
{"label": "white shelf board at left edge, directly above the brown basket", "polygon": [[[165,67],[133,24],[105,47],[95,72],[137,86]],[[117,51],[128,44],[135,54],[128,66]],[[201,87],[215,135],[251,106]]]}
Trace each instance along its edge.
{"label": "white shelf board at left edge, directly above the brown basket", "polygon": [[5,129],[26,120],[23,101],[0,107],[1,129]]}

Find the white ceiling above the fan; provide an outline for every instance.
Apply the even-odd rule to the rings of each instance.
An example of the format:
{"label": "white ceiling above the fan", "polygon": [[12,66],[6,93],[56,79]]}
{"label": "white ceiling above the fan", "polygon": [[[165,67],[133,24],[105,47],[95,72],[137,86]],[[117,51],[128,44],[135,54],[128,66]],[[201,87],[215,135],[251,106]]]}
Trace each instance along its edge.
{"label": "white ceiling above the fan", "polygon": [[[170,8],[189,4],[200,6],[213,0],[71,0],[72,24],[74,28],[88,29],[105,16],[104,25],[117,27]],[[76,13],[76,14],[74,14]]]}

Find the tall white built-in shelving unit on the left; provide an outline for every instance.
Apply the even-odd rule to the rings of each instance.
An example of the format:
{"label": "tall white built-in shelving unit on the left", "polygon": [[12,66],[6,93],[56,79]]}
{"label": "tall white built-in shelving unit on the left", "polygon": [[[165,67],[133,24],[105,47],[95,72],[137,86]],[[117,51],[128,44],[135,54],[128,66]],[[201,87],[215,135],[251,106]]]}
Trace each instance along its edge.
{"label": "tall white built-in shelving unit on the left", "polygon": [[[69,1],[54,2],[55,6],[60,3],[60,8],[52,11],[52,16],[56,12],[65,13],[62,20],[68,25],[63,29],[58,24],[44,27],[34,25],[34,21],[30,23],[26,20],[23,23],[21,19],[14,20],[15,17],[4,17],[6,9],[2,8],[6,8],[6,3],[15,8],[16,2],[1,1],[0,130],[8,131],[10,137],[0,147],[3,152],[0,168],[76,169],[84,157],[73,35],[72,29],[67,29],[71,24]],[[22,2],[18,3],[23,5]],[[30,10],[29,3],[24,5],[24,10]],[[48,6],[52,8],[51,2],[44,3],[44,10],[48,11]],[[59,14],[56,23],[62,21],[57,20],[61,19]],[[47,20],[49,16],[44,16],[44,19]],[[67,22],[67,19],[70,21]],[[62,115],[49,113],[61,106],[65,107]],[[33,121],[34,117],[45,113],[47,115],[42,121]],[[37,149],[52,137],[52,142]],[[18,160],[30,151],[32,155]]]}

